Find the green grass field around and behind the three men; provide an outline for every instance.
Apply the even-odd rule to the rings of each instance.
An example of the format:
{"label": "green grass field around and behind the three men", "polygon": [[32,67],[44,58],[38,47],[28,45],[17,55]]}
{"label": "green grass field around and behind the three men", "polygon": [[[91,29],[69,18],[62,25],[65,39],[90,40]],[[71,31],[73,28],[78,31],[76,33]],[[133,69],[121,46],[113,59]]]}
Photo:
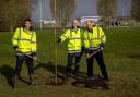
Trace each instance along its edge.
{"label": "green grass field around and behind the three men", "polygon": [[[12,34],[0,33],[0,97],[140,97],[140,27],[105,29],[107,43],[104,51],[109,75],[109,90],[95,90],[72,85],[45,85],[55,71],[55,37],[52,31],[37,32],[37,58],[35,80],[38,87],[19,82],[16,90],[11,87],[11,76],[15,66]],[[60,35],[61,32],[57,32]],[[58,73],[63,75],[67,63],[67,43],[57,44]],[[84,56],[83,56],[84,58]],[[86,76],[86,62],[82,62],[80,74]],[[95,64],[94,72],[100,74]],[[27,80],[26,65],[22,77]],[[73,80],[71,80],[72,82]]]}

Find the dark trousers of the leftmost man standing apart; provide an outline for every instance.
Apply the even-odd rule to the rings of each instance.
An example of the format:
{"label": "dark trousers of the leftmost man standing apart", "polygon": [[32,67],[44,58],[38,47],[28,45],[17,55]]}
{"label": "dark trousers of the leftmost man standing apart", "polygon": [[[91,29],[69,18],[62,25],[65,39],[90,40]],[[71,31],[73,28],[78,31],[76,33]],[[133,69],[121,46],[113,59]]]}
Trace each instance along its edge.
{"label": "dark trousers of the leftmost man standing apart", "polygon": [[27,58],[27,57],[16,56],[15,75],[18,75],[18,76],[20,76],[22,64],[23,64],[24,60],[27,65],[28,74],[30,75],[34,74],[33,59]]}

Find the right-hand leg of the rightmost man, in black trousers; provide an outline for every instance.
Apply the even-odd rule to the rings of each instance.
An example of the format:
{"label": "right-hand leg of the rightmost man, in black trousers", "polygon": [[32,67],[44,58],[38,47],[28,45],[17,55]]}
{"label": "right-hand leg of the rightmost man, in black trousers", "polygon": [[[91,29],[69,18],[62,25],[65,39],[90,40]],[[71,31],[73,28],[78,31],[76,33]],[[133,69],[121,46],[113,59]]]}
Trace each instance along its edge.
{"label": "right-hand leg of the rightmost man, in black trousers", "polygon": [[95,54],[95,59],[100,65],[102,75],[104,76],[104,80],[108,81],[108,75],[107,75],[106,66],[105,66],[104,59],[103,59],[103,51],[97,52]]}

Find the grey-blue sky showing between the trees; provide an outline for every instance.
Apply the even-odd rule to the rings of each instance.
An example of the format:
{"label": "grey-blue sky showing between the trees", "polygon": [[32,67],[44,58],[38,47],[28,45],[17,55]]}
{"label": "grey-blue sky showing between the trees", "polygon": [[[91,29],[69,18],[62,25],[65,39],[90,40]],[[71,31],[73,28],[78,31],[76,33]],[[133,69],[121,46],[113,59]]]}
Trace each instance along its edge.
{"label": "grey-blue sky showing between the trees", "polygon": [[[51,20],[51,12],[49,8],[49,0],[42,0],[43,4],[43,20]],[[130,16],[131,0],[118,0],[118,16]],[[40,19],[39,3],[32,11],[32,19]],[[72,17],[80,16],[96,16],[96,0],[75,0],[75,10]]]}

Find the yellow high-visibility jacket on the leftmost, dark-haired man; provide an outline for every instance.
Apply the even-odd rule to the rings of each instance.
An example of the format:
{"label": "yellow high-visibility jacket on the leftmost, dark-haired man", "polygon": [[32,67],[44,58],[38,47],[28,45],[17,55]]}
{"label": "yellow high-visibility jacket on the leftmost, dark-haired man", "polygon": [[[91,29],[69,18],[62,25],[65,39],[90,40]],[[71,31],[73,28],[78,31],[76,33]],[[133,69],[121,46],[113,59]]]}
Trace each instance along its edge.
{"label": "yellow high-visibility jacket on the leftmost, dark-haired man", "polygon": [[36,33],[24,28],[16,28],[12,38],[13,46],[18,46],[18,51],[31,53],[36,52]]}

